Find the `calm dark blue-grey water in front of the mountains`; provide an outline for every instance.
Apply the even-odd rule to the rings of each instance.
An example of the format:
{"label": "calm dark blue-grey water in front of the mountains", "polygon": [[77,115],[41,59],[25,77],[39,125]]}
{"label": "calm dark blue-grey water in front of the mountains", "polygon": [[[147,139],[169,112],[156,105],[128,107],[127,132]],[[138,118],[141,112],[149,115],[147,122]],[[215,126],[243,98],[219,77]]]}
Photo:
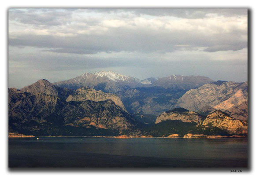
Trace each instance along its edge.
{"label": "calm dark blue-grey water in front of the mountains", "polygon": [[9,139],[9,167],[247,167],[247,139]]}

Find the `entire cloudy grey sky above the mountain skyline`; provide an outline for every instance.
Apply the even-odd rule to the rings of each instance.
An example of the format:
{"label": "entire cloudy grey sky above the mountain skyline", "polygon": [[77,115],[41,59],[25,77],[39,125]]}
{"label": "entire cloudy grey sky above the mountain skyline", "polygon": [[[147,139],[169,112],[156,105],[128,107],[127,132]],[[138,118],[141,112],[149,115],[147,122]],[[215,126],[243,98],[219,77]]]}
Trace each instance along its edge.
{"label": "entire cloudy grey sky above the mountain skyline", "polygon": [[247,81],[247,9],[8,11],[8,87],[111,70]]}

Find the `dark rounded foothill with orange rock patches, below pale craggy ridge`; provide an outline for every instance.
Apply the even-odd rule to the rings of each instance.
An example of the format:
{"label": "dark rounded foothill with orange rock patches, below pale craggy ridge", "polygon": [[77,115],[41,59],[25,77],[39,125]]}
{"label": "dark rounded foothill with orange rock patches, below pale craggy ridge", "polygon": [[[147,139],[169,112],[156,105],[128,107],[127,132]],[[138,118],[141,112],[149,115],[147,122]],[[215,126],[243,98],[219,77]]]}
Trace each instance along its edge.
{"label": "dark rounded foothill with orange rock patches, below pale craggy ridge", "polygon": [[112,100],[68,102],[59,111],[58,117],[63,119],[64,125],[119,131],[128,130],[136,123],[130,114],[116,106]]}

